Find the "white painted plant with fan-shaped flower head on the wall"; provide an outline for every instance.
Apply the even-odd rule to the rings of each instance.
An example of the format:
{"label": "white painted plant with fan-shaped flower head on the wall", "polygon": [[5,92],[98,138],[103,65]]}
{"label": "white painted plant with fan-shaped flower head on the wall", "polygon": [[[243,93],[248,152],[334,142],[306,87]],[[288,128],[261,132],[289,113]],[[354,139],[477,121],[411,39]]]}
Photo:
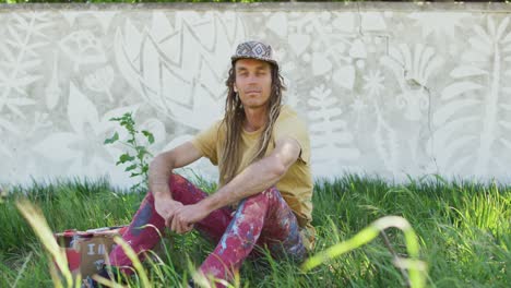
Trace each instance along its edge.
{"label": "white painted plant with fan-shaped flower head on the wall", "polygon": [[[401,135],[405,137],[399,139],[399,144],[395,144],[395,130],[388,128],[388,132],[392,134],[394,146],[389,146],[391,159],[384,159],[384,163],[392,163],[389,167],[393,173],[397,173],[397,169],[403,169],[407,173],[420,173],[420,168],[417,166],[427,165],[429,159],[420,158],[425,154],[424,137],[431,132],[429,125],[423,123],[430,122],[430,97],[428,83],[432,73],[439,71],[443,60],[436,55],[431,47],[425,47],[421,44],[416,44],[409,47],[407,44],[400,44],[397,47],[391,46],[388,56],[381,58],[381,64],[392,71],[393,79],[397,83],[399,92],[394,96],[393,105],[400,116],[401,123],[399,128]],[[379,151],[383,151],[383,143],[377,141],[380,145]],[[406,159],[406,163],[402,163]]]}

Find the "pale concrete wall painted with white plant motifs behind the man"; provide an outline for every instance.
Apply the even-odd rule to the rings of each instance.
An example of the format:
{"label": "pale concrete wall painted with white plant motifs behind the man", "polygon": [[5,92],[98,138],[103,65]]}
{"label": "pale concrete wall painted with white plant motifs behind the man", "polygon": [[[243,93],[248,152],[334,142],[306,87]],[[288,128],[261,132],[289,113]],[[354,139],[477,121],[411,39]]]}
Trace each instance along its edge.
{"label": "pale concrete wall painted with white plant motifs behind the man", "polygon": [[[0,182],[109,175],[135,111],[153,152],[222,113],[229,56],[276,48],[317,177],[510,183],[508,4],[0,5]],[[209,161],[194,168],[214,179]]]}

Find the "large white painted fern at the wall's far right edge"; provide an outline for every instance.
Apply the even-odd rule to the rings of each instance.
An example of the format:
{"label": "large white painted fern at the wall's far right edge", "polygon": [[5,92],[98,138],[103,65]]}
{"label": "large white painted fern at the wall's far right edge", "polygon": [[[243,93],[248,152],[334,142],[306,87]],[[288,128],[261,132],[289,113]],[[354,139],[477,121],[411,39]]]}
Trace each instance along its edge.
{"label": "large white painted fern at the wall's far right edge", "polygon": [[509,157],[495,151],[511,149],[509,16],[500,23],[489,16],[486,27],[475,25],[468,44],[450,73],[455,82],[442,91],[442,106],[433,116],[433,151],[447,172],[504,173]]}

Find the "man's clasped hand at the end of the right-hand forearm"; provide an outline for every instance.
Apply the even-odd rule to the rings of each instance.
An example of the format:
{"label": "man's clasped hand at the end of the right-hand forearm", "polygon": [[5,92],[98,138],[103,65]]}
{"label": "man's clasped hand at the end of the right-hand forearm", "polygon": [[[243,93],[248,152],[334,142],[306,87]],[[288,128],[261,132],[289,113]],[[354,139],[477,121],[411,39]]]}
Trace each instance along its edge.
{"label": "man's clasped hand at the end of the right-hand forearm", "polygon": [[180,206],[174,212],[173,223],[169,227],[177,233],[189,232],[193,229],[193,224],[204,219],[210,213],[201,203]]}

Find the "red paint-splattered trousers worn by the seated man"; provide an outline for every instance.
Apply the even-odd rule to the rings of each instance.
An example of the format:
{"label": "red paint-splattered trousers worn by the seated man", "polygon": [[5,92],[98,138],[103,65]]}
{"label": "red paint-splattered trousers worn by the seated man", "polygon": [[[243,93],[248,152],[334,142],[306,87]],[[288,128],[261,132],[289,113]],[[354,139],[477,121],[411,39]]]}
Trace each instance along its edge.
{"label": "red paint-splattered trousers worn by the seated man", "polygon": [[[207,196],[181,176],[173,175],[169,180],[173,199],[185,205],[198,203]],[[159,231],[165,228],[165,220],[156,213],[151,192],[122,236],[136,253],[151,250],[161,240],[154,227],[139,228],[147,224]],[[275,257],[287,255],[296,261],[304,260],[307,253],[298,221],[275,188],[242,200],[236,211],[229,207],[214,211],[194,224],[194,228],[218,243],[200,267],[203,275],[218,279],[233,279],[255,245],[268,248]],[[143,257],[143,254],[139,255]],[[111,251],[110,263],[117,267],[131,266],[131,261],[120,247]]]}

